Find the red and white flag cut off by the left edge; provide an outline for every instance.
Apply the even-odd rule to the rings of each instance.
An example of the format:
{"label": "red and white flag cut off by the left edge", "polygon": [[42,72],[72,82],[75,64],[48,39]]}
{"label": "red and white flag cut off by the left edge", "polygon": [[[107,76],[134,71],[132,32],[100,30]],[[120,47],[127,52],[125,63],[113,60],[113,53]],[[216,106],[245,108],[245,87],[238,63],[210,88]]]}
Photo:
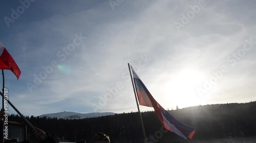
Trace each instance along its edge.
{"label": "red and white flag cut off by the left edge", "polygon": [[20,76],[20,70],[13,60],[10,53],[6,50],[5,46],[0,42],[0,69],[11,70],[17,79]]}

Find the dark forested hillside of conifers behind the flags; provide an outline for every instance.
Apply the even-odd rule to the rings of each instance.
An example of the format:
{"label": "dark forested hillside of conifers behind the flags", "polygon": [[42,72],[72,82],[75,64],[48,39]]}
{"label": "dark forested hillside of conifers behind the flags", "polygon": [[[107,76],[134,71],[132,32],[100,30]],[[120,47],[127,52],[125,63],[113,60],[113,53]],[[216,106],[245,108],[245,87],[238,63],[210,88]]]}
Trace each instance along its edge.
{"label": "dark forested hillside of conifers behind the flags", "polygon": [[[193,140],[247,138],[256,135],[256,102],[194,106],[168,110],[177,120],[196,129]],[[138,112],[79,120],[27,117],[36,127],[54,137],[90,142],[97,132],[109,134],[111,142],[143,142]],[[172,132],[162,132],[154,111],[142,112],[148,143],[189,142]],[[23,122],[18,115],[10,115],[9,121]],[[30,135],[29,137],[33,138]]]}

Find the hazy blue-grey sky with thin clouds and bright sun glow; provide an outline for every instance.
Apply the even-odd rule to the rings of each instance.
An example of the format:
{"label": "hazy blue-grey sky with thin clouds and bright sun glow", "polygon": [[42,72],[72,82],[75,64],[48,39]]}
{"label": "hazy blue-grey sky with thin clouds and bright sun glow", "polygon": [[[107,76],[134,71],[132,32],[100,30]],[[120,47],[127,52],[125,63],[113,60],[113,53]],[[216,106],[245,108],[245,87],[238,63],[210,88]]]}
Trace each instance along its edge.
{"label": "hazy blue-grey sky with thin clouds and bright sun glow", "polygon": [[22,71],[5,70],[8,99],[26,116],[135,112],[130,63],[165,109],[255,101],[255,6],[1,1],[0,41]]}

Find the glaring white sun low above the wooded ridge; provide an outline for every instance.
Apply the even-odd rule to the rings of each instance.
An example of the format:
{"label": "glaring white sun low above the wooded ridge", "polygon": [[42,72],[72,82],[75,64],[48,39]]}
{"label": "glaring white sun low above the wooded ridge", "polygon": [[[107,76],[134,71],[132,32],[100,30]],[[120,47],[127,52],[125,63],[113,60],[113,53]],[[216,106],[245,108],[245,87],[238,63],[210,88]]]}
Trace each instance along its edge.
{"label": "glaring white sun low above the wooded ridge", "polygon": [[172,74],[165,85],[168,99],[180,108],[202,104],[197,88],[203,79],[203,73],[196,69],[183,69]]}

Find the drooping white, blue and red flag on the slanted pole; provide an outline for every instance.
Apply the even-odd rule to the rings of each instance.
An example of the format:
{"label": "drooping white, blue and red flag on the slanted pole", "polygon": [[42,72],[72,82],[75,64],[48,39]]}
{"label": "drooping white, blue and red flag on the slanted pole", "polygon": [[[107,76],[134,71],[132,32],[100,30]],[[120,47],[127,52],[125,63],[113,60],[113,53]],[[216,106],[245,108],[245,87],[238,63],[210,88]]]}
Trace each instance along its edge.
{"label": "drooping white, blue and red flag on the slanted pole", "polygon": [[133,79],[140,105],[154,107],[158,119],[166,130],[172,131],[183,138],[193,138],[195,129],[176,120],[150,94],[139,76],[132,68]]}

